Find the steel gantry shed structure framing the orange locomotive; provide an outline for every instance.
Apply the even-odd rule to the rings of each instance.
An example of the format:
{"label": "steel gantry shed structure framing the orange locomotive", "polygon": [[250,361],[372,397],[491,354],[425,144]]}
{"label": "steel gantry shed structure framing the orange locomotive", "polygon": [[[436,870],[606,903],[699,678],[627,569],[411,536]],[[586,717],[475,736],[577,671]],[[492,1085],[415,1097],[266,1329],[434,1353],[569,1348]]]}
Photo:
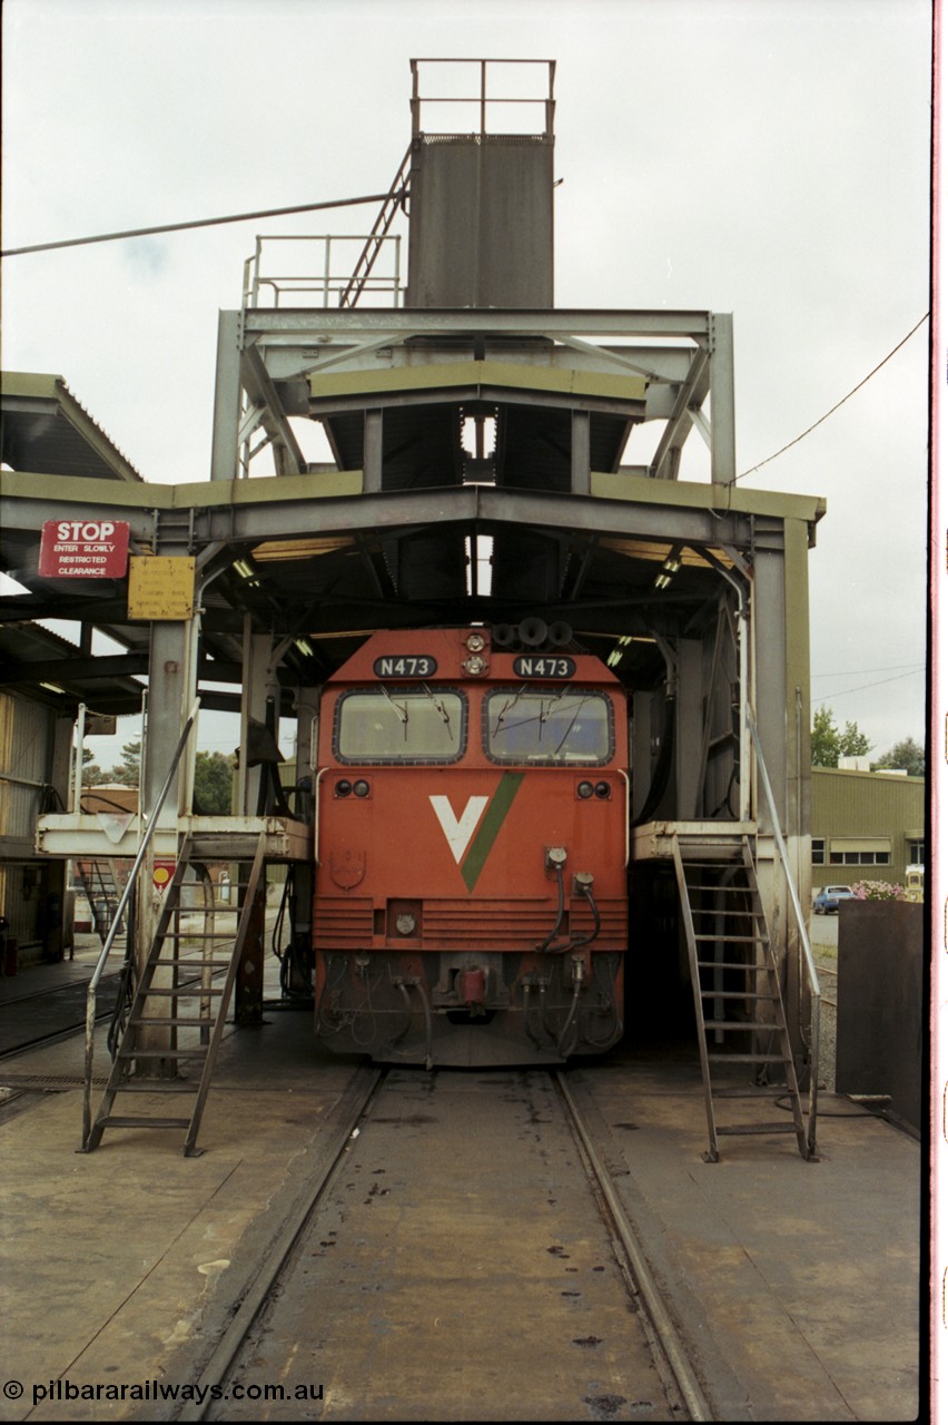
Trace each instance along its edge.
{"label": "steel gantry shed structure framing the orange locomotive", "polygon": [[[369,631],[565,623],[629,694],[638,859],[670,865],[668,828],[683,824],[752,838],[774,955],[789,966],[790,1036],[804,1052],[791,911],[809,895],[807,551],[823,500],[737,483],[729,315],[538,305],[537,292],[552,291],[545,217],[524,225],[510,271],[495,276],[522,301],[490,301],[494,268],[477,266],[497,242],[485,225],[470,256],[477,305],[433,305],[455,281],[447,254],[463,219],[443,202],[468,181],[458,174],[501,207],[520,187],[547,202],[548,74],[535,134],[493,135],[484,115],[474,134],[428,134],[416,87],[409,155],[366,239],[362,285],[340,286],[340,305],[317,281],[327,265],[302,288],[312,305],[282,305],[300,291],[296,269],[283,286],[269,268],[266,282],[248,281],[243,305],[219,318],[209,479],[158,486],[102,479],[90,465],[77,480],[56,462],[36,469],[20,442],[0,494],[3,567],[26,587],[0,616],[4,683],[64,712],[77,703],[108,712],[125,711],[130,680],[147,674],[147,808],[195,698],[241,710],[243,748],[252,727],[276,735],[293,720],[295,775],[312,778],[319,687]],[[349,305],[373,292],[364,255],[389,241],[407,195],[407,294],[396,281],[390,306]],[[268,294],[272,305],[260,305]],[[327,459],[305,455],[306,423],[322,429]],[[706,449],[703,476],[685,480],[692,432]],[[626,463],[633,435],[652,450],[638,465]],[[258,473],[263,452],[273,473]],[[40,579],[40,532],[53,516],[121,519],[137,559],[194,561],[186,616],[135,618],[127,579],[81,598],[75,581]],[[127,653],[95,660],[88,647],[37,648],[23,634],[63,616],[107,630]],[[303,819],[272,818],[246,758],[233,819],[204,824],[192,755],[194,744],[159,848],[218,836],[221,849],[228,832],[266,832],[268,858],[306,861]],[[139,829],[105,849],[125,854]],[[95,839],[80,807],[40,819],[44,854],[94,854]]]}

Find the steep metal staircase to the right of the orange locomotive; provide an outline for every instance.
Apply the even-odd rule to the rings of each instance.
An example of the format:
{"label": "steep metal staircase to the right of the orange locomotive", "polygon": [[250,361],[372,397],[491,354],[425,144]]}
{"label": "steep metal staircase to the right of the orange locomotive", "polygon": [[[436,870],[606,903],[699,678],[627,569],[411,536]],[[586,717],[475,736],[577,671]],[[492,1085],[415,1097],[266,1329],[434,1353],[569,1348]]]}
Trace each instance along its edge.
{"label": "steep metal staircase to the right of the orange locomotive", "polygon": [[[695,1017],[705,1084],[709,1150],[717,1163],[723,1134],[794,1133],[804,1159],[813,1157],[800,1103],[793,1049],[780,996],[777,962],[746,835],[673,838],[675,874],[688,938]],[[749,1070],[734,1084],[734,1069]],[[730,1082],[716,1077],[723,1070]],[[767,1082],[767,1080],[773,1082]],[[774,1099],[784,1087],[791,1113],[780,1121],[722,1126],[722,1099]]]}

